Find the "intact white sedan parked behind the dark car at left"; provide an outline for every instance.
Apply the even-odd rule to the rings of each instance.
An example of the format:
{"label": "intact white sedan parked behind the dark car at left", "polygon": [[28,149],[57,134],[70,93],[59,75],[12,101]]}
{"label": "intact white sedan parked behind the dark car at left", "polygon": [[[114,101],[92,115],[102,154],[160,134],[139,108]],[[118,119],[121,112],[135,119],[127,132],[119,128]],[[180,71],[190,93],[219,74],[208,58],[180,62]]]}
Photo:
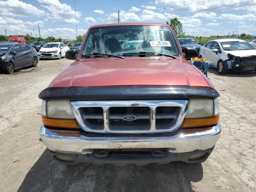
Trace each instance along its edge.
{"label": "intact white sedan parked behind the dark car at left", "polygon": [[40,59],[44,58],[56,58],[61,59],[65,57],[66,51],[69,50],[69,47],[64,43],[46,43],[38,52]]}

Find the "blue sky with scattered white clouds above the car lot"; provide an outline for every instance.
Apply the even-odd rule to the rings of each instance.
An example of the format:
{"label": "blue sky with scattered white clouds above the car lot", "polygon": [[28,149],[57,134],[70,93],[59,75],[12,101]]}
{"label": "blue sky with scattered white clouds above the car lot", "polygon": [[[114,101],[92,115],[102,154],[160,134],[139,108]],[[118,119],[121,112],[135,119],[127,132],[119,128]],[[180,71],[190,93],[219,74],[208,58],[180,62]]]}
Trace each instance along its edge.
{"label": "blue sky with scattered white clouds above the car lot", "polygon": [[[166,23],[177,17],[186,35],[256,35],[256,0],[0,0],[0,34],[54,36],[85,34],[95,24]],[[115,18],[112,18],[115,17]]]}

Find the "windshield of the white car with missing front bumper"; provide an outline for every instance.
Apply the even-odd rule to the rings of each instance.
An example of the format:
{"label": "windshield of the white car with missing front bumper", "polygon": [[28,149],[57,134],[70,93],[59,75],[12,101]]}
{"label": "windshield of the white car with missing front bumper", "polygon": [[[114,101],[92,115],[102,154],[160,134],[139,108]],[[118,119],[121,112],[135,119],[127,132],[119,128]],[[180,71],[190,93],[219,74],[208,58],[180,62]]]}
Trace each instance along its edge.
{"label": "windshield of the white car with missing front bumper", "polygon": [[229,41],[229,42],[221,42],[220,44],[221,44],[223,50],[227,50],[227,51],[253,50],[253,49],[255,49],[248,42]]}

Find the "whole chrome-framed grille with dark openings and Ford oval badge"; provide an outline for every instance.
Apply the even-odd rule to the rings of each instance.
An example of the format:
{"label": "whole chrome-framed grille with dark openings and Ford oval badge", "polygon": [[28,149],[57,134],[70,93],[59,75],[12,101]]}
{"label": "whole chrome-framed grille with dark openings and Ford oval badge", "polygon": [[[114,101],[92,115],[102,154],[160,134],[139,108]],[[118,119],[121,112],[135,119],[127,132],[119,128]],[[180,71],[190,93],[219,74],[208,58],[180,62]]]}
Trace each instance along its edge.
{"label": "whole chrome-framed grille with dark openings and Ford oval badge", "polygon": [[[72,110],[81,128],[100,133],[171,132],[180,127],[187,100],[74,101]],[[124,116],[135,116],[132,121]]]}

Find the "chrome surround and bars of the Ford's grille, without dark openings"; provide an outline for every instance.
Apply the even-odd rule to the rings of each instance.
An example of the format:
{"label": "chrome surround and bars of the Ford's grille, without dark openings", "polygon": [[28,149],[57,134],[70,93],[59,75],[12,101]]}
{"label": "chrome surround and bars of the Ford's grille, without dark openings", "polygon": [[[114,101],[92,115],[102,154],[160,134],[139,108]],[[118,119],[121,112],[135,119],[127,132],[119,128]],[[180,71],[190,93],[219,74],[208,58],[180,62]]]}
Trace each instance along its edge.
{"label": "chrome surround and bars of the Ford's grille, without dark openings", "polygon": [[[177,130],[186,115],[188,100],[116,100],[116,101],[73,101],[71,102],[72,110],[74,112],[74,116],[80,125],[80,127],[92,133],[163,133],[163,132],[171,132]],[[140,106],[140,107],[150,107],[150,130],[110,130],[109,129],[109,119],[108,119],[108,108],[110,107],[132,107],[132,106]],[[180,107],[180,113],[178,115],[177,122],[174,126],[165,130],[157,130],[155,127],[156,124],[156,108],[159,106],[170,106],[170,107]],[[79,108],[83,107],[102,107],[104,111],[104,129],[103,130],[93,130],[87,127],[84,124],[82,116],[79,112]]]}

